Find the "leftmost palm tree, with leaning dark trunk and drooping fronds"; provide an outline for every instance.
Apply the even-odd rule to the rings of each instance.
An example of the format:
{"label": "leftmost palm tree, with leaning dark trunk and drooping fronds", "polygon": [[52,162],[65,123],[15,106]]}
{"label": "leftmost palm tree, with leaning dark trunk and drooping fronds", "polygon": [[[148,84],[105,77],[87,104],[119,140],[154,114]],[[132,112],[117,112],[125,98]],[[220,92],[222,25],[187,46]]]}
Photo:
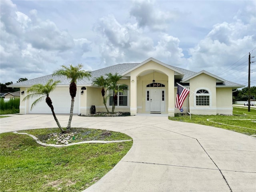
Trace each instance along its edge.
{"label": "leftmost palm tree, with leaning dark trunk and drooping fronds", "polygon": [[43,100],[44,97],[46,97],[45,101],[47,103],[47,105],[51,108],[52,110],[52,115],[54,117],[54,120],[56,121],[58,127],[60,128],[61,132],[64,132],[64,130],[62,129],[62,127],[60,126],[60,123],[54,113],[54,108],[53,108],[53,105],[52,105],[52,100],[51,98],[49,97],[49,94],[50,92],[52,92],[57,84],[59,83],[60,81],[54,81],[52,79],[48,80],[48,82],[45,84],[45,85],[42,85],[42,84],[35,84],[33,85],[32,87],[28,88],[27,89],[27,93],[28,95],[23,99],[26,100],[26,99],[29,99],[29,98],[36,98],[38,96],[40,96],[38,99],[36,99],[32,105],[31,105],[31,110],[34,106],[36,106],[36,104],[38,104],[38,102],[41,102]]}

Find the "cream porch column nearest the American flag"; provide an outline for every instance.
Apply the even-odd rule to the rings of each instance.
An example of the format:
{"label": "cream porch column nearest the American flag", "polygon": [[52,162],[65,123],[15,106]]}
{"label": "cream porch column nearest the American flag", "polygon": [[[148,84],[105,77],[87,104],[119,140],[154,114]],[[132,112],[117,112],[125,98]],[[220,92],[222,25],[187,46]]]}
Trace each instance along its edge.
{"label": "cream porch column nearest the American flag", "polygon": [[168,116],[174,117],[174,75],[168,75]]}

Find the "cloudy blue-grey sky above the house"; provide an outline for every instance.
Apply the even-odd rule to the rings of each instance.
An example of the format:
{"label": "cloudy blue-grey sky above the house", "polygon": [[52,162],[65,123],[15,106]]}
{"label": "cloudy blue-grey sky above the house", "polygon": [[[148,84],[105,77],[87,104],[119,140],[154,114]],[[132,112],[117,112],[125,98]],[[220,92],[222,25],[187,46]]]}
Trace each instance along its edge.
{"label": "cloudy blue-grey sky above the house", "polygon": [[0,0],[0,20],[1,83],[153,57],[248,86],[256,56],[255,0]]}

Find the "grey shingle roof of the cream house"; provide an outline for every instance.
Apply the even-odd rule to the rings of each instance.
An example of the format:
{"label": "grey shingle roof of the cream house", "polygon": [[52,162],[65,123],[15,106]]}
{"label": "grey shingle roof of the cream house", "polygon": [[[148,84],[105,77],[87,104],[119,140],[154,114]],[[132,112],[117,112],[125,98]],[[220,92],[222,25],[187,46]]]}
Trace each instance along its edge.
{"label": "grey shingle roof of the cream house", "polygon": [[[92,71],[91,72],[92,77],[90,79],[84,78],[83,80],[78,81],[77,85],[90,86],[92,84],[92,81],[94,80],[94,78],[97,78],[99,76],[106,77],[105,74],[108,74],[110,72],[112,74],[114,74],[114,73],[124,74],[126,71],[134,68],[135,66],[137,66],[139,64],[140,63],[117,64],[117,65],[113,65],[113,66],[109,66],[109,67],[106,67],[106,68],[102,68],[102,69]],[[179,68],[179,67],[176,67],[176,66],[171,66],[171,67],[183,72],[183,74],[184,74],[184,76],[182,78],[183,80],[197,74],[196,72],[186,70],[186,69],[183,69],[183,68]],[[26,80],[26,81],[22,81],[22,82],[12,84],[12,87],[32,86],[34,84],[46,84],[46,82],[48,82],[49,79],[53,79],[54,81],[60,80],[61,82],[59,83],[59,85],[69,85],[70,84],[70,80],[68,80],[65,77],[47,75],[47,76],[42,76],[42,77],[39,77],[39,78],[34,78],[34,79],[31,79],[31,80]],[[230,82],[230,81],[227,81],[227,80],[225,80],[225,82],[222,83],[222,84],[217,84],[217,86],[218,87],[227,87],[228,86],[228,87],[236,87],[236,88],[244,87],[241,84],[237,84],[237,83]]]}

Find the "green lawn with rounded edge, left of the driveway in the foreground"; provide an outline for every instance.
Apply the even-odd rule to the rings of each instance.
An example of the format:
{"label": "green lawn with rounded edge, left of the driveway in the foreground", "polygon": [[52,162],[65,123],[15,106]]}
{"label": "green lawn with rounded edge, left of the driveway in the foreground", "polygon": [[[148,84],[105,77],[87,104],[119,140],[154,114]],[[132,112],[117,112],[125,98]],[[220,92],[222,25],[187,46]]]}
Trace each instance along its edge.
{"label": "green lawn with rounded edge, left of the driveway in the foreground", "polygon": [[[84,130],[80,130],[79,134],[82,135]],[[57,132],[58,128],[26,130],[38,137],[52,131]],[[104,134],[103,138],[103,132],[92,130],[88,136],[111,140],[131,139],[116,132],[110,132],[110,137],[110,134]],[[131,146],[132,141],[78,144],[63,148],[44,147],[27,135],[2,133],[0,191],[80,192],[109,172]]]}

